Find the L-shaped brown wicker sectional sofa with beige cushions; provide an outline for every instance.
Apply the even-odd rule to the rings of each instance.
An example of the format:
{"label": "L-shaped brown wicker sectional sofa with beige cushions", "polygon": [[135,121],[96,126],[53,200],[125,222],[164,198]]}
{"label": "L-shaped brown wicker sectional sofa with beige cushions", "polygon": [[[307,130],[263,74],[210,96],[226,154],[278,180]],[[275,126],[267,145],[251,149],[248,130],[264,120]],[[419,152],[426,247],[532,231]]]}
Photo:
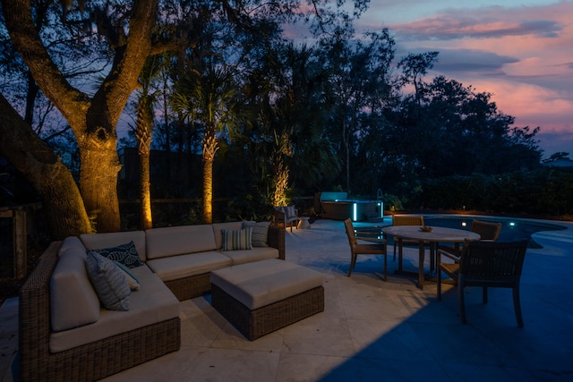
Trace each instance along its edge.
{"label": "L-shaped brown wicker sectional sofa with beige cushions", "polygon": [[[266,242],[259,236],[254,246],[253,236],[247,250],[229,247],[231,239],[224,242],[222,233],[238,231],[244,222],[84,234],[51,243],[21,288],[20,380],[96,380],[177,351],[179,301],[210,293],[210,271],[285,259],[284,230],[262,225],[268,226]],[[108,310],[88,275],[90,250],[125,244],[141,260],[124,273],[139,290],[129,293],[128,310]]]}

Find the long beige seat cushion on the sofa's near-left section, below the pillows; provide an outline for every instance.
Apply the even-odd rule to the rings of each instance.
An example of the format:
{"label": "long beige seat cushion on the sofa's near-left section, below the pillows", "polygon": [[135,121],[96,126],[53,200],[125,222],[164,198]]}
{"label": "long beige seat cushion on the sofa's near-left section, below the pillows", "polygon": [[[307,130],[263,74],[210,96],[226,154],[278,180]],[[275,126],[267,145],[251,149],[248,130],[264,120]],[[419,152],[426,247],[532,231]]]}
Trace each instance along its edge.
{"label": "long beige seat cushion on the sofa's near-left section, below the pillows", "polygon": [[93,324],[50,335],[50,351],[62,352],[112,335],[179,317],[179,301],[147,266],[130,269],[141,284],[130,296],[128,311],[100,310]]}

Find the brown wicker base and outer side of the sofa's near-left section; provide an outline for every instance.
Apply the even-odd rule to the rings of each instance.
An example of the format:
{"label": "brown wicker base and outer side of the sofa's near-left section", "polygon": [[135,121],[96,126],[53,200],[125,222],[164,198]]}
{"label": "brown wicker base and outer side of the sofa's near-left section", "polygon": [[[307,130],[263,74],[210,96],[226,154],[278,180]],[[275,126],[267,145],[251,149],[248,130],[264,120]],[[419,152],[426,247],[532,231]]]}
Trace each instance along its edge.
{"label": "brown wicker base and outer side of the sofa's near-left section", "polygon": [[179,350],[181,320],[172,318],[63,352],[50,352],[50,277],[61,245],[50,244],[21,288],[21,381],[92,381]]}

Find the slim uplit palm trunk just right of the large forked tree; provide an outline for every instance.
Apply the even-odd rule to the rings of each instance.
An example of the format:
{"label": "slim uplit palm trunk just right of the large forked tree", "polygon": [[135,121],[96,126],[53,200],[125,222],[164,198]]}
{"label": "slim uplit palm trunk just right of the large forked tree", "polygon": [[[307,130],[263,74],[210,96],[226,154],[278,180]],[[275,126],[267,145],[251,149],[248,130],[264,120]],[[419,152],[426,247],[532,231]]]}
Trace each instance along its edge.
{"label": "slim uplit palm trunk just right of the large forked tree", "polygon": [[137,138],[140,156],[140,197],[141,197],[141,229],[153,227],[151,216],[150,191],[150,151],[151,132],[153,132],[153,110],[150,97],[141,96],[137,115],[135,137]]}

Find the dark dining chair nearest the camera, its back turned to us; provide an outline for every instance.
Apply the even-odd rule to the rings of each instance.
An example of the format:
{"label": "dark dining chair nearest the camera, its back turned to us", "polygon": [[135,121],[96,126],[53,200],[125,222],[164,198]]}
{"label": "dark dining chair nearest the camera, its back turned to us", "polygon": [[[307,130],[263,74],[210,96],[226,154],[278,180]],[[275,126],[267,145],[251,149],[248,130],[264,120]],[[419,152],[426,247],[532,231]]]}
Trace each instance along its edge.
{"label": "dark dining chair nearest the camera, its back turned to us", "polygon": [[441,272],[456,281],[458,287],[459,316],[466,324],[464,289],[481,286],[482,300],[487,303],[487,288],[511,288],[517,326],[524,327],[519,301],[519,280],[526,257],[527,241],[519,242],[465,242],[459,262],[442,263],[438,255],[438,301],[441,301]]}

